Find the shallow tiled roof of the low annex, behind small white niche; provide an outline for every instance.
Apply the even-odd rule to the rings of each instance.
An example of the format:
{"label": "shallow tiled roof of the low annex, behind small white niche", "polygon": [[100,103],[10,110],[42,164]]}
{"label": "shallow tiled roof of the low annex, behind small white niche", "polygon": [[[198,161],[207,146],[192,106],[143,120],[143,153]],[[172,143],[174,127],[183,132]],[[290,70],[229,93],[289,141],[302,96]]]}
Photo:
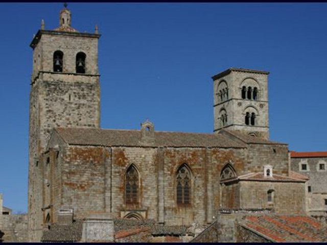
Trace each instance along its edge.
{"label": "shallow tiled roof of the low annex, behind small white niche", "polygon": [[291,176],[282,176],[273,174],[272,177],[265,177],[263,173],[248,173],[246,175],[241,175],[237,178],[228,179],[221,182],[229,182],[235,180],[250,180],[250,181],[279,181],[279,182],[306,182],[307,179],[296,178]]}

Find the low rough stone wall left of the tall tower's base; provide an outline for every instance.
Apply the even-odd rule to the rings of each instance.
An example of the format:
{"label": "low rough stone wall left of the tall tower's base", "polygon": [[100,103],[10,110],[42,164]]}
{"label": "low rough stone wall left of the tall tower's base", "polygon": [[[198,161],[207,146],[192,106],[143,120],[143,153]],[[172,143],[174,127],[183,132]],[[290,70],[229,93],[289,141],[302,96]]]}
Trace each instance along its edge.
{"label": "low rough stone wall left of the tall tower's base", "polygon": [[28,215],[11,214],[3,215],[4,242],[28,241]]}

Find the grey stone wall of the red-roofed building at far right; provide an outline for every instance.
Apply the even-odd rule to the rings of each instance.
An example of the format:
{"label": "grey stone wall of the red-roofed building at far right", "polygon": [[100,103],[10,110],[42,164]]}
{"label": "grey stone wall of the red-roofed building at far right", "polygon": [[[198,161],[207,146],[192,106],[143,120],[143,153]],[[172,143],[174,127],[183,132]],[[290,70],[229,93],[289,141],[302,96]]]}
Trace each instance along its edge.
{"label": "grey stone wall of the red-roofed building at far right", "polygon": [[[307,165],[307,170],[301,169],[301,164]],[[324,169],[319,169],[319,164],[324,165]],[[327,157],[303,157],[291,158],[291,170],[308,176],[307,182],[307,203],[308,211],[311,215],[320,215],[327,211],[325,199],[327,199]],[[311,192],[308,191],[311,187]]]}

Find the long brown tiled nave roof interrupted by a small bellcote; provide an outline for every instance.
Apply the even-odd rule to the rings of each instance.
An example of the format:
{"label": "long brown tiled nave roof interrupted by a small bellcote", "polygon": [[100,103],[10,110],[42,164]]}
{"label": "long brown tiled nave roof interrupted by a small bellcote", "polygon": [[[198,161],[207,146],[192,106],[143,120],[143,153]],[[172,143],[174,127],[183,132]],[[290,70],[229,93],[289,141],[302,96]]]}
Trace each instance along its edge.
{"label": "long brown tiled nave roof interrupted by a small bellcote", "polygon": [[[73,145],[142,146],[141,131],[95,128],[56,128],[62,139]],[[153,146],[245,148],[242,142],[224,135],[154,131]]]}

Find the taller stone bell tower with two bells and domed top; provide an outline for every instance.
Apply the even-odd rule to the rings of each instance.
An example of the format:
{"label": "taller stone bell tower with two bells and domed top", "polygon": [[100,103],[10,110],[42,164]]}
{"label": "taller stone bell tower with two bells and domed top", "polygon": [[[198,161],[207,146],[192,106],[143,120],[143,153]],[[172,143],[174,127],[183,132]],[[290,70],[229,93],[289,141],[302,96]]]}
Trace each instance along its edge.
{"label": "taller stone bell tower with two bells and domed top", "polygon": [[41,209],[42,164],[54,127],[100,127],[98,29],[80,33],[71,26],[71,11],[60,11],[60,26],[34,36],[29,128],[29,234],[39,241],[44,217]]}

